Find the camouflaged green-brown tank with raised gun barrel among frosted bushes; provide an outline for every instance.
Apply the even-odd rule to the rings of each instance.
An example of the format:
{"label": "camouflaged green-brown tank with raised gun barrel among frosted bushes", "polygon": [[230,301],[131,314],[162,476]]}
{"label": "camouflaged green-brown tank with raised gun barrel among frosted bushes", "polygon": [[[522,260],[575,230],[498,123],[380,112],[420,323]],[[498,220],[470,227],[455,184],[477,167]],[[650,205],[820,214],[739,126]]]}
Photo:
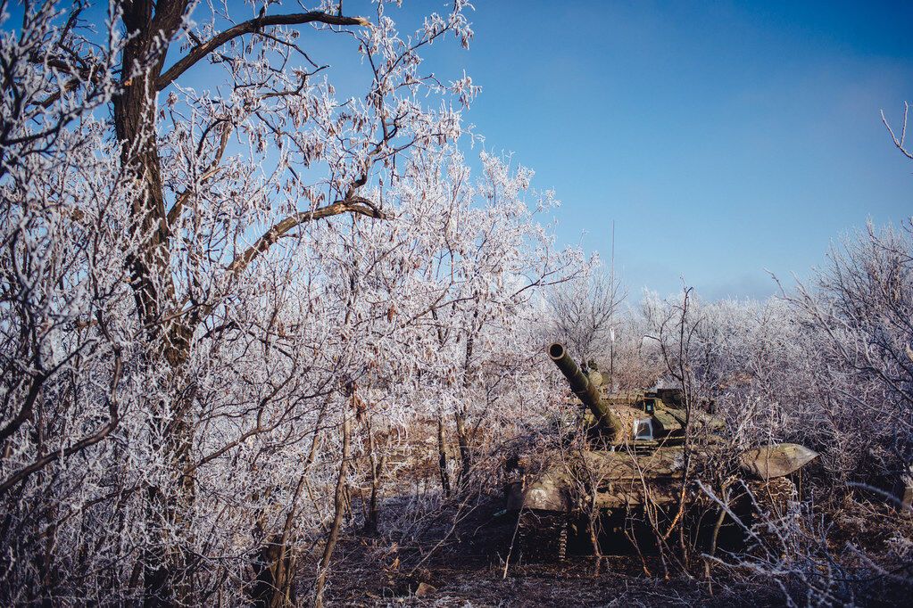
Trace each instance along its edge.
{"label": "camouflaged green-brown tank with raised gun barrel among frosted bushes", "polygon": [[[729,497],[730,513],[750,518],[782,510],[795,490],[791,476],[818,456],[791,443],[733,454],[720,435],[723,420],[700,404],[687,407],[682,390],[612,394],[601,374],[578,366],[563,345],[550,345],[548,356],[576,397],[568,405],[581,411],[555,447],[508,459],[504,512],[517,518],[509,548],[515,558],[563,559],[569,541],[592,551],[613,532],[641,551],[657,525],[688,513],[698,513],[691,537],[716,548],[721,529],[740,527],[723,525],[726,511],[700,488],[705,479],[727,471],[727,488],[714,490]],[[638,529],[633,521],[652,523]]]}

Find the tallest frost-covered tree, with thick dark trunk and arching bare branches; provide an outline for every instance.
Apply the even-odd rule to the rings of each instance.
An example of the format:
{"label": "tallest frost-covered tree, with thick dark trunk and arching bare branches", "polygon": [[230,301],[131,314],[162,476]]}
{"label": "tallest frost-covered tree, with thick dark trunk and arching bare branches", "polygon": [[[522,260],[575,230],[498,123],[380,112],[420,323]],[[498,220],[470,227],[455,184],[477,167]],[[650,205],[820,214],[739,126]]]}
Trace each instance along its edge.
{"label": "tallest frost-covered tree, with thick dark trunk and arching bare branches", "polygon": [[[12,23],[0,5],[10,599],[36,581],[163,603],[214,593],[230,571],[194,557],[221,538],[199,528],[216,517],[205,493],[224,489],[205,465],[256,435],[300,442],[280,423],[339,385],[345,350],[293,344],[278,360],[271,342],[308,330],[314,344],[352,323],[311,314],[339,303],[318,300],[320,273],[294,245],[333,236],[333,218],[393,217],[383,189],[404,153],[461,130],[458,110],[420,100],[475,92],[423,74],[419,55],[448,35],[467,45],[465,3],[413,36],[385,3],[373,19],[340,8],[44,3]],[[321,36],[362,57],[359,96],[335,98],[311,51]],[[283,318],[290,302],[297,318]],[[100,571],[106,581],[84,576]]]}

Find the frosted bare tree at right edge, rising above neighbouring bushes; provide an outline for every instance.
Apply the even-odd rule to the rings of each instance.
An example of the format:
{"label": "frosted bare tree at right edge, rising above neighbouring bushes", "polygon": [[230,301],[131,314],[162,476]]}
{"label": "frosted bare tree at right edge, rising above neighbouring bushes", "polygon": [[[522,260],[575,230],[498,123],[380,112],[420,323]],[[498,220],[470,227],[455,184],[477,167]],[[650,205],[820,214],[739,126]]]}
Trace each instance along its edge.
{"label": "frosted bare tree at right edge, rising above neighbouring bushes", "polygon": [[913,462],[913,224],[848,237],[792,303],[820,335],[839,404],[834,428],[860,437],[851,470],[866,462],[869,475],[905,476]]}

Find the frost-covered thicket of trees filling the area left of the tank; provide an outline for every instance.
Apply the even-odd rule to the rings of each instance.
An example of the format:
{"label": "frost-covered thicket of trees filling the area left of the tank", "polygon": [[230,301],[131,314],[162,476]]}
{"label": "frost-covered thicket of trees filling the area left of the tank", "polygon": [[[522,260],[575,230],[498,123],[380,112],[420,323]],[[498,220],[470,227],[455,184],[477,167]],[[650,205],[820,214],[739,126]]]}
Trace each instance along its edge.
{"label": "frost-covered thicket of trees filling the area left of the tank", "polygon": [[517,319],[582,267],[529,170],[454,147],[476,88],[421,53],[465,2],[231,8],[0,3],[0,603],[319,604],[352,489],[376,531],[426,420],[467,483]]}

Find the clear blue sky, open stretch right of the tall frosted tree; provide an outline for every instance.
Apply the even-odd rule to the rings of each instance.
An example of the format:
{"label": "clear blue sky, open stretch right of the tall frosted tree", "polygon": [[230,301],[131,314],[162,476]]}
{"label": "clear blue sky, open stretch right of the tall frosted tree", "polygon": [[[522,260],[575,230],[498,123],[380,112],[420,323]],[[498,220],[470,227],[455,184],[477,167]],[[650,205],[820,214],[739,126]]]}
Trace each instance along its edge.
{"label": "clear blue sky, open stretch right of the tall frosted tree", "polygon": [[[424,4],[424,3],[419,3]],[[635,298],[762,297],[830,243],[913,213],[881,124],[913,101],[913,2],[479,0],[448,51],[483,87],[467,119],[553,188],[561,242]],[[452,49],[453,46],[450,46]]]}

